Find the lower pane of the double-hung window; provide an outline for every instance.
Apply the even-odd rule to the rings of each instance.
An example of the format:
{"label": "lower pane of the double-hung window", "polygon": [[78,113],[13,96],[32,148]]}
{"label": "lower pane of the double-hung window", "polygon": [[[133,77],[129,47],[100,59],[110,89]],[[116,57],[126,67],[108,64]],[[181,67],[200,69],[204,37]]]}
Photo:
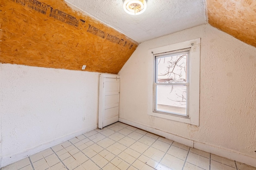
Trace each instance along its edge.
{"label": "lower pane of the double-hung window", "polygon": [[156,86],[156,110],[186,115],[186,86]]}

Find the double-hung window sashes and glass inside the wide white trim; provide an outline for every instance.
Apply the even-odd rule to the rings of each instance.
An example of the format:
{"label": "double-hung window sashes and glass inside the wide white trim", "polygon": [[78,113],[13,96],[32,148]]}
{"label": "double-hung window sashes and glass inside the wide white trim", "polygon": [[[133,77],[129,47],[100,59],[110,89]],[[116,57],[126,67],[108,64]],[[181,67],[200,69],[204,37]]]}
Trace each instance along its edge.
{"label": "double-hung window sashes and glass inside the wide white trim", "polygon": [[190,48],[154,55],[154,111],[188,116]]}

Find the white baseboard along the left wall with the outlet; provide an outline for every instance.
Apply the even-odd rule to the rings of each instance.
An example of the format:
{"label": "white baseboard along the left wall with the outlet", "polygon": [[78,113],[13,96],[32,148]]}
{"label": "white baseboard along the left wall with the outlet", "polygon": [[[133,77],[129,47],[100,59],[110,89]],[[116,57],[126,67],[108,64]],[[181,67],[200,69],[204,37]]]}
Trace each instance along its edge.
{"label": "white baseboard along the left wall with the outlet", "polygon": [[92,131],[94,129],[97,129],[97,127],[98,127],[98,125],[91,125],[91,126],[88,126],[88,127],[84,128],[80,131],[76,131],[74,133],[71,133],[71,134],[65,135],[63,137],[60,137],[58,139],[55,139],[54,141],[50,141],[48,143],[44,143],[44,144],[39,145],[37,147],[27,149],[24,152],[19,152],[19,153],[16,153],[14,155],[9,155],[9,156],[5,156],[3,158],[0,158],[0,168],[2,168],[4,166],[7,166],[9,164],[12,164],[12,163],[14,163],[18,160],[22,160],[23,158],[26,158],[26,157],[28,157],[32,154],[36,154],[36,153],[41,152],[45,149],[48,149],[48,148],[53,147],[55,145],[58,145],[58,144],[60,144],[64,141],[72,139],[73,137],[76,137],[76,136],[81,135],[83,133],[86,133],[86,132]]}

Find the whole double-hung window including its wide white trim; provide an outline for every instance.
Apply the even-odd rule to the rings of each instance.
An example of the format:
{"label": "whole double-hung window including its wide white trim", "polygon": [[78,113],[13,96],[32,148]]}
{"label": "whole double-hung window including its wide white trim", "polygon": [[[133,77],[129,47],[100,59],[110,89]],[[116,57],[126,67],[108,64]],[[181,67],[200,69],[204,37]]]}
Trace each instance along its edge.
{"label": "whole double-hung window including its wide white trim", "polygon": [[149,115],[199,125],[200,39],[151,49],[153,111]]}

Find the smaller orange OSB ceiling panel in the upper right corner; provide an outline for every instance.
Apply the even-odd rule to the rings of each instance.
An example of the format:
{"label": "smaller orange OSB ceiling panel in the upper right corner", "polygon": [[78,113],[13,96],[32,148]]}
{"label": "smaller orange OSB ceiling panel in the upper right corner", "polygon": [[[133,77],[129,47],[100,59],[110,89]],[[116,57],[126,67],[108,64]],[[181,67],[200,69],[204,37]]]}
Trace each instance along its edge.
{"label": "smaller orange OSB ceiling panel in the upper right corner", "polygon": [[207,0],[210,25],[256,47],[256,0]]}

